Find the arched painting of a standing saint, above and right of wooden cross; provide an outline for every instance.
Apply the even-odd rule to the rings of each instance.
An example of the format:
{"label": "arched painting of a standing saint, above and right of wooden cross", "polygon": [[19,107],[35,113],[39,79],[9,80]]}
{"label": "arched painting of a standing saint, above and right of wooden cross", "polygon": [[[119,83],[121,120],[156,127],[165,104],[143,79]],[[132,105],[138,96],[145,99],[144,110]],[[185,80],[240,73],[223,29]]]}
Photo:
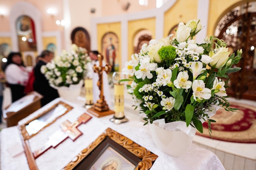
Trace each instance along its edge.
{"label": "arched painting of a standing saint, above and right of wooden cross", "polygon": [[106,63],[112,66],[111,72],[119,71],[119,56],[118,49],[119,49],[119,40],[115,33],[106,33],[101,41],[101,53],[104,56],[104,60]]}

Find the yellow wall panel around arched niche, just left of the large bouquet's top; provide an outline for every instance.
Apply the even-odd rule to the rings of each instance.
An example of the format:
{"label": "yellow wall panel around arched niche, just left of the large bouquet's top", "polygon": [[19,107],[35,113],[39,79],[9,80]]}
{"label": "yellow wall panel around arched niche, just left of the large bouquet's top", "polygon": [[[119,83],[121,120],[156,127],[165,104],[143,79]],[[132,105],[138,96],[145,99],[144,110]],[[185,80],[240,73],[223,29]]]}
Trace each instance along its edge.
{"label": "yellow wall panel around arched niche, just left of the large bouquet's top", "polygon": [[152,33],[152,39],[155,38],[155,18],[146,18],[143,20],[133,20],[128,22],[128,60],[133,54],[133,40],[135,35],[141,30],[148,30]]}

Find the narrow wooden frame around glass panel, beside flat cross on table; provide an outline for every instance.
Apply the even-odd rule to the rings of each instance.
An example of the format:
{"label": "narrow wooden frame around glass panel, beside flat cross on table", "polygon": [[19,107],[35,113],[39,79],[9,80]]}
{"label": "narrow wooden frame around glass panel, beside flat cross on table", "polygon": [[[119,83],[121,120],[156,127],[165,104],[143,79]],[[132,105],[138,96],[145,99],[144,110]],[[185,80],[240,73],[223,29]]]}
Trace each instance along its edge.
{"label": "narrow wooden frame around glass panel, beside flat cross on table", "polygon": [[[62,115],[56,117],[53,121],[51,121],[50,123],[48,123],[47,125],[45,125],[43,128],[41,128],[40,130],[38,130],[38,132],[32,134],[32,135],[29,135],[27,130],[26,130],[26,125],[28,125],[31,121],[33,120],[36,120],[38,119],[38,117],[42,116],[42,115],[45,115],[47,112],[49,112],[50,110],[52,110],[54,107],[58,106],[58,104],[62,104],[65,108],[67,108],[67,110],[65,111],[65,113],[63,113]],[[58,118],[62,117],[63,115],[65,115],[66,113],[68,113],[70,110],[72,110],[73,107],[60,101],[56,104],[54,104],[52,107],[48,108],[47,110],[45,110],[44,112],[38,114],[36,117],[34,117],[33,119],[30,119],[29,121],[27,121],[25,124],[22,124],[19,126],[19,129],[20,129],[20,132],[21,132],[21,135],[23,136],[23,139],[24,140],[28,140],[30,139],[31,137],[35,136],[36,134],[38,134],[40,131],[42,131],[44,128],[46,128],[47,126],[51,125],[54,123],[54,121],[56,121]]]}

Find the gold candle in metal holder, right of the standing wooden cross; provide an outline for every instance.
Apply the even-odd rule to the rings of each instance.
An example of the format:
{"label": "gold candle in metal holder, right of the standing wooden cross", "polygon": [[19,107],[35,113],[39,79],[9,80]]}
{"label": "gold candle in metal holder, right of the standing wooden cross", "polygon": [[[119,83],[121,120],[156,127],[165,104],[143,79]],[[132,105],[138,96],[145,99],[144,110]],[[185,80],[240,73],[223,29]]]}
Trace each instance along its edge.
{"label": "gold candle in metal holder, right of the standing wooden cross", "polygon": [[124,115],[124,83],[119,82],[119,80],[124,79],[124,75],[121,72],[114,72],[112,79],[114,82],[115,114],[110,121],[121,124],[128,121]]}

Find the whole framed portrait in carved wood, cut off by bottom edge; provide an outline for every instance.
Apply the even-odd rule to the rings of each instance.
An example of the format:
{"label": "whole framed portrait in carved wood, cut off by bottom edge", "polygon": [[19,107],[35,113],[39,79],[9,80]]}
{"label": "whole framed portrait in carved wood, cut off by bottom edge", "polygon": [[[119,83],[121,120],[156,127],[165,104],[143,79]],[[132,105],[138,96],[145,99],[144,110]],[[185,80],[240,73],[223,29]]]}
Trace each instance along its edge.
{"label": "whole framed portrait in carved wood, cut off by bottom edge", "polygon": [[63,170],[149,170],[157,157],[146,148],[108,128]]}

